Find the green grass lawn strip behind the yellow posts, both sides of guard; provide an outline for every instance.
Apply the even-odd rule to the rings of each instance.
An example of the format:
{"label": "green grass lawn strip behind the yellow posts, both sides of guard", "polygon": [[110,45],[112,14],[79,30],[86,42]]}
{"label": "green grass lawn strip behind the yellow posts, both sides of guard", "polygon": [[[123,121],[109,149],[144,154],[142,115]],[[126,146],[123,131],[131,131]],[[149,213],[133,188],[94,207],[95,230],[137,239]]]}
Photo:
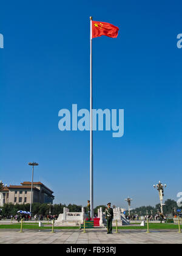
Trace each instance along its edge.
{"label": "green grass lawn strip behind the yellow posts, both sides of guard", "polygon": [[[50,223],[44,223],[44,225],[50,225],[48,227],[39,227],[38,223],[23,223],[22,229],[52,229],[52,225]],[[17,224],[0,224],[0,229],[20,229],[21,223]],[[182,225],[180,225],[182,229]],[[79,229],[79,227],[54,227],[54,229]],[[113,227],[115,229],[115,227]],[[135,226],[130,224],[130,226],[122,226],[118,227],[118,229],[147,229],[147,225],[145,227]],[[175,229],[178,230],[177,224],[168,224],[168,223],[150,223],[149,229]]]}

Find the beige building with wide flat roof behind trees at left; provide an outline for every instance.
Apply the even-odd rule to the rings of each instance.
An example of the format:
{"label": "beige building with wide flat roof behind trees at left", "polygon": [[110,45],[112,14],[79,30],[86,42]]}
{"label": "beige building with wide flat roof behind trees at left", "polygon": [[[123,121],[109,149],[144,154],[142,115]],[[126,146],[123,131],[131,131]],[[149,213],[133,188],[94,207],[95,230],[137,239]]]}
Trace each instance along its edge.
{"label": "beige building with wide flat roof behind trees at left", "polygon": [[[0,193],[0,206],[8,203],[30,204],[32,182],[23,182],[21,185],[4,187]],[[53,203],[53,191],[41,182],[33,182],[32,203]]]}

